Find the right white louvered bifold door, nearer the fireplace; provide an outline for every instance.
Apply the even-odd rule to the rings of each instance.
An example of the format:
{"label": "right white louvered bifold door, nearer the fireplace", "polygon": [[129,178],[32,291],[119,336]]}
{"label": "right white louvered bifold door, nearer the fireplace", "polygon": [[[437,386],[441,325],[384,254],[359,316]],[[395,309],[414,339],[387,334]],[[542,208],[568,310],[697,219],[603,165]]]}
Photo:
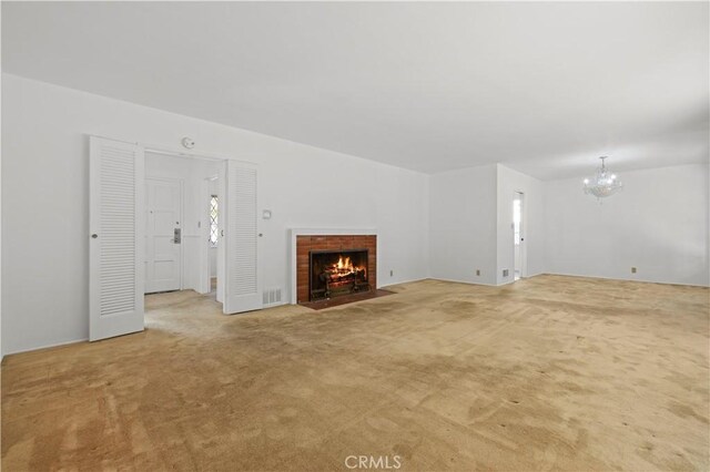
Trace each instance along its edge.
{"label": "right white louvered bifold door, nearer the fireplace", "polygon": [[224,312],[236,314],[262,308],[256,167],[229,161],[226,174]]}

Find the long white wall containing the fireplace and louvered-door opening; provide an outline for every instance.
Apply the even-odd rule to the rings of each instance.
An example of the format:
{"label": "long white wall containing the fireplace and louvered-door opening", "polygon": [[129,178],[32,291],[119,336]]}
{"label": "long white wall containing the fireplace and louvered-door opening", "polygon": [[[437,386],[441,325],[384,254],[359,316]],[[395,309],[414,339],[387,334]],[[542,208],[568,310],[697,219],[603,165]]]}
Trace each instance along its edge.
{"label": "long white wall containing the fireplace and louvered-door opening", "polygon": [[290,227],[376,227],[381,286],[428,276],[425,174],[9,74],[2,94],[4,352],[88,337],[88,134],[257,163],[264,286],[285,299]]}

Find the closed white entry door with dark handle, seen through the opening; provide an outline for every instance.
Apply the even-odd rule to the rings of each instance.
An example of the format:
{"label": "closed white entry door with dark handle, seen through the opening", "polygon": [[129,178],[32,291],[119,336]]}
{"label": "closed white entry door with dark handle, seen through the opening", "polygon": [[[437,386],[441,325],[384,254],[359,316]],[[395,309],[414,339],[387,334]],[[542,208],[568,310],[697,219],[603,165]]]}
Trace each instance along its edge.
{"label": "closed white entry door with dark handle, seen through the opening", "polygon": [[145,178],[145,293],[182,288],[182,182]]}

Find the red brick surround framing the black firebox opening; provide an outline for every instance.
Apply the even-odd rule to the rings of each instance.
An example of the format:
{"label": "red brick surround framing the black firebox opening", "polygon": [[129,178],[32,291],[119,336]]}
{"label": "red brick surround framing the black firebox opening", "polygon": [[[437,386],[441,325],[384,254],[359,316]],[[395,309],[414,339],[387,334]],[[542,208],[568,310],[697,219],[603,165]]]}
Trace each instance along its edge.
{"label": "red brick surround framing the black firebox opening", "polygon": [[377,235],[296,236],[296,300],[308,301],[308,253],[311,250],[367,249],[367,281],[377,288]]}

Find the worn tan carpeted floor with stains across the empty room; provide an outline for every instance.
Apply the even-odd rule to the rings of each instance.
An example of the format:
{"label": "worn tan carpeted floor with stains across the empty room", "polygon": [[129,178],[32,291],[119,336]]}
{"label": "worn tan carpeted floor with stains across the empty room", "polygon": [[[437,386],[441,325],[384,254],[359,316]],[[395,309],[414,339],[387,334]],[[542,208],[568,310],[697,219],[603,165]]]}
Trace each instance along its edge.
{"label": "worn tan carpeted floor with stains across the empty room", "polygon": [[10,356],[2,470],[709,469],[708,289],[393,289],[232,317],[155,295],[142,334]]}

